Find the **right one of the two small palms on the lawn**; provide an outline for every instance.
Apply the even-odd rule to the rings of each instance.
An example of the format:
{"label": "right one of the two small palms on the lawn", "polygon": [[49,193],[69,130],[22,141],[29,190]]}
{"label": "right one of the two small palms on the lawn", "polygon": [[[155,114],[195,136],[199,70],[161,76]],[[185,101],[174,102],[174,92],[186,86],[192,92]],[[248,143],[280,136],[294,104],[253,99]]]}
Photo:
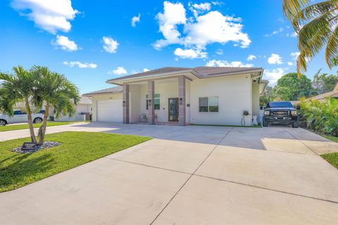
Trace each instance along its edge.
{"label": "right one of the two small palms on the lawn", "polygon": [[35,66],[31,72],[37,77],[37,84],[33,101],[36,105],[44,108],[44,118],[39,128],[39,145],[44,143],[46,134],[46,124],[49,117],[49,110],[54,108],[56,118],[61,115],[69,115],[75,113],[75,107],[80,101],[80,94],[72,82],[65,76],[51,72],[49,68]]}

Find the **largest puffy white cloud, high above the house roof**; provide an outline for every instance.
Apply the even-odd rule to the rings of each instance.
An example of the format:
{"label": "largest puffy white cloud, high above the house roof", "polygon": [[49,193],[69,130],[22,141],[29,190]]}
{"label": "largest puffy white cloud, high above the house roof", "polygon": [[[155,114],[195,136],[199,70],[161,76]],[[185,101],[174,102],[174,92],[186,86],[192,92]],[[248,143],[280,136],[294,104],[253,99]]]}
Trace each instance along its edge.
{"label": "largest puffy white cloud, high above the house roof", "polygon": [[226,44],[230,41],[246,48],[251,43],[248,34],[242,32],[240,18],[223,15],[219,11],[209,11],[209,5],[205,4],[194,4],[190,8],[204,8],[203,11],[207,12],[187,19],[187,12],[181,3],[164,2],[163,13],[156,16],[159,31],[164,38],[154,43],[155,49],[162,49],[170,44],[181,44],[184,49],[205,49],[208,44]]}

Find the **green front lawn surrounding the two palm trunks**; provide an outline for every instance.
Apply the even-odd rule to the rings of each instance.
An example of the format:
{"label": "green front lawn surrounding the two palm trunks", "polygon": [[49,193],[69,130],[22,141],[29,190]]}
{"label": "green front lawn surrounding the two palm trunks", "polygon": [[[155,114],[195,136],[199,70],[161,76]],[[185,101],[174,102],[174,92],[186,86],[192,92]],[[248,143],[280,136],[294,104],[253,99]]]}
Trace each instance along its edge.
{"label": "green front lawn surrounding the two palm trunks", "polygon": [[0,142],[0,192],[20,188],[149,139],[141,136],[68,131],[46,135],[46,141],[58,141],[61,146],[25,154],[13,153],[11,150],[21,146],[23,141],[30,141],[29,139]]}

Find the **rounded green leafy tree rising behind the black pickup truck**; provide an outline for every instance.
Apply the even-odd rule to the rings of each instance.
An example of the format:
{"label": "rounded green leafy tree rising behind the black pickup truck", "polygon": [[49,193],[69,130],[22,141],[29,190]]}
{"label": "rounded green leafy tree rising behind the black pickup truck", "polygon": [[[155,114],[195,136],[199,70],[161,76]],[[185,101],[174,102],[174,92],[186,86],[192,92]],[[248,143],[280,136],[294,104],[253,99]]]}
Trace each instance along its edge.
{"label": "rounded green leafy tree rising behind the black pickup truck", "polygon": [[290,72],[278,79],[273,88],[273,96],[278,101],[296,101],[301,97],[317,94],[311,85],[311,79],[305,75],[298,78],[296,72]]}

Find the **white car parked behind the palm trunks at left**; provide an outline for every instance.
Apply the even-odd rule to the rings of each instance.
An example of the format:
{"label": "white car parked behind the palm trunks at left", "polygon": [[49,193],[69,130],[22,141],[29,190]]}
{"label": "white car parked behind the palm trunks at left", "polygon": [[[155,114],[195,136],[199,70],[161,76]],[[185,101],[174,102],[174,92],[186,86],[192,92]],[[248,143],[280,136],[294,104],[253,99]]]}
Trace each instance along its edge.
{"label": "white car parked behind the palm trunks at left", "polygon": [[[44,110],[40,110],[39,113],[32,114],[33,123],[42,123],[44,117]],[[23,113],[21,110],[14,110],[13,117],[9,117],[6,114],[0,114],[0,126],[6,126],[6,124],[13,124],[16,122],[28,122],[27,113]]]}

